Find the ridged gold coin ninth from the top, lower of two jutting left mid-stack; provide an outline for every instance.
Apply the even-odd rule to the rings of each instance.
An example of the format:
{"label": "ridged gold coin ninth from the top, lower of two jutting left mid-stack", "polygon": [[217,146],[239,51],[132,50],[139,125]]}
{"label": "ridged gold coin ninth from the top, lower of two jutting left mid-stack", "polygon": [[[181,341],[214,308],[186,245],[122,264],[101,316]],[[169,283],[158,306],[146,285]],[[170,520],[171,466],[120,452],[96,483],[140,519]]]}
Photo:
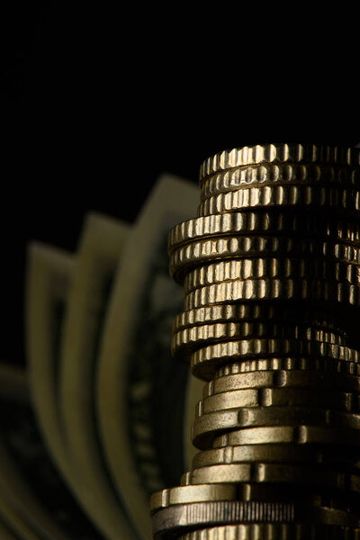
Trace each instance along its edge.
{"label": "ridged gold coin ninth from the top, lower of two jutting left mid-stack", "polygon": [[290,322],[230,322],[202,325],[176,332],[171,341],[175,357],[191,356],[201,347],[231,339],[289,338],[321,341],[334,345],[347,345],[341,334],[314,326],[292,325]]}

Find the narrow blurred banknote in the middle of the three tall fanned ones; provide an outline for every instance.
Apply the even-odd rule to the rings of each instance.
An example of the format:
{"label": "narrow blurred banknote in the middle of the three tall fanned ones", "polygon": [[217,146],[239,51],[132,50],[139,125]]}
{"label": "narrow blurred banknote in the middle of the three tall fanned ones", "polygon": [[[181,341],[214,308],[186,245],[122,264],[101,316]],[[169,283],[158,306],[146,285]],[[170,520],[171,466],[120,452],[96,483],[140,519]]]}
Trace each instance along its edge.
{"label": "narrow blurred banknote in the middle of the three tall fanned ones", "polygon": [[[86,216],[68,294],[60,344],[58,402],[72,468],[81,495],[92,495],[91,516],[110,540],[133,532],[103,465],[94,410],[94,374],[112,278],[129,227],[108,216]],[[78,493],[80,493],[80,488]],[[88,499],[87,499],[88,500]]]}

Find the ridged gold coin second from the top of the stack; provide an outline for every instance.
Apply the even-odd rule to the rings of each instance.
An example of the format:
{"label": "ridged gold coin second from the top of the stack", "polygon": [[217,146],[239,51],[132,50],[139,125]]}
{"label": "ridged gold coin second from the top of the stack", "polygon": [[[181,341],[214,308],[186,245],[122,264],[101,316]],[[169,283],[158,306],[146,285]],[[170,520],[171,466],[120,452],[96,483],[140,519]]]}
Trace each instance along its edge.
{"label": "ridged gold coin second from the top of the stack", "polygon": [[222,171],[202,181],[201,200],[249,185],[325,184],[357,188],[360,167],[304,165],[300,163],[264,164]]}

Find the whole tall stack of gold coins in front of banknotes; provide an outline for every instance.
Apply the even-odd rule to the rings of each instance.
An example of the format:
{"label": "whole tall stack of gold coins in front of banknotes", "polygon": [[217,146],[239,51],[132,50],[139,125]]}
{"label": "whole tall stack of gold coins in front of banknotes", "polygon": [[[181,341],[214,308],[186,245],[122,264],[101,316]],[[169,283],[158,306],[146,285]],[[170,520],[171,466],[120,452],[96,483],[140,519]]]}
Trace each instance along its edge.
{"label": "whole tall stack of gold coins in front of banknotes", "polygon": [[154,537],[360,539],[360,151],[235,148],[200,185],[168,244],[200,452]]}

